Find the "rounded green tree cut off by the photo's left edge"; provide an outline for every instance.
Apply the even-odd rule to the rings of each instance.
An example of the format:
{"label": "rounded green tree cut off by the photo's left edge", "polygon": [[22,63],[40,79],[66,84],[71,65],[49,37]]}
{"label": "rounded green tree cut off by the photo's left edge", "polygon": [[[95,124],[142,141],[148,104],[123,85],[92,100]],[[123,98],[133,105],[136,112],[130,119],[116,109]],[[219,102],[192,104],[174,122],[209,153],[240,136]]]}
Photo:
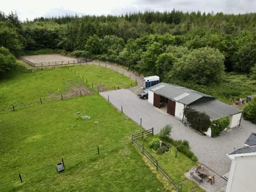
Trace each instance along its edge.
{"label": "rounded green tree cut off by the photo's left edge", "polygon": [[16,59],[14,55],[7,48],[0,47],[0,77],[15,68]]}

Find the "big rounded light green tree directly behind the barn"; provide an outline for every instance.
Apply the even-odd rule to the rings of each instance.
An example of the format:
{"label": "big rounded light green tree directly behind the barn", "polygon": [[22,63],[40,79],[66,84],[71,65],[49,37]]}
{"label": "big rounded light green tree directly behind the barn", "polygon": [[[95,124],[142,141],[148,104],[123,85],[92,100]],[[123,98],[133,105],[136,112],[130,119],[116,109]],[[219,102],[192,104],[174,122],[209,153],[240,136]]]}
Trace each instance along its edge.
{"label": "big rounded light green tree directly behind the barn", "polygon": [[224,75],[224,56],[213,48],[199,48],[184,55],[174,64],[174,73],[182,80],[197,84],[218,83]]}

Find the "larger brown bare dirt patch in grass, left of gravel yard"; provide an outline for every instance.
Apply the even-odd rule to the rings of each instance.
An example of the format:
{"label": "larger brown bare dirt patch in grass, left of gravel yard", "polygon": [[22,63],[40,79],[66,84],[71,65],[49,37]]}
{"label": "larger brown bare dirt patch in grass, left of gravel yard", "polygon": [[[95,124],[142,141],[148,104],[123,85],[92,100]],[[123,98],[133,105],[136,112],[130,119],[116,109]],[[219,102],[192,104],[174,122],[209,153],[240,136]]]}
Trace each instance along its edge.
{"label": "larger brown bare dirt patch in grass, left of gravel yard", "polygon": [[63,95],[63,98],[75,97],[75,96],[85,96],[94,93],[95,91],[89,89],[83,84],[78,86],[69,87],[69,91]]}

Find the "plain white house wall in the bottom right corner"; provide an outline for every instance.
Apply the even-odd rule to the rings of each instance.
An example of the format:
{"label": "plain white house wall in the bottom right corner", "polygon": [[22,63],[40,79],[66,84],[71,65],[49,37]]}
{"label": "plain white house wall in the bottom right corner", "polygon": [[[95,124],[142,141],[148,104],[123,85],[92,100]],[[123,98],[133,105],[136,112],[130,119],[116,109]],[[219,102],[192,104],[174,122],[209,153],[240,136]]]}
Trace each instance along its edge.
{"label": "plain white house wall in the bottom right corner", "polygon": [[[226,192],[255,192],[256,155],[235,157]],[[233,167],[232,167],[233,166]],[[233,170],[232,170],[233,169]],[[232,171],[234,171],[232,173]],[[233,177],[232,177],[233,174]]]}

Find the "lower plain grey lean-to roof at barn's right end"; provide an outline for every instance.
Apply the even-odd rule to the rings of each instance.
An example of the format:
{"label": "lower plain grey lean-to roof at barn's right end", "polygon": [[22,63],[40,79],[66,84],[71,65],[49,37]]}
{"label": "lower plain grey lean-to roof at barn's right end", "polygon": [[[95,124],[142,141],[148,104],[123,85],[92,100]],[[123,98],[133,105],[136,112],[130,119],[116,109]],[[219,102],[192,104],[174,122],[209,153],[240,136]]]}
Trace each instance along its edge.
{"label": "lower plain grey lean-to roof at barn's right end", "polygon": [[191,104],[189,105],[189,107],[199,112],[204,112],[212,120],[243,112],[240,109],[229,106],[216,99],[212,99],[210,101],[206,101],[202,103]]}

